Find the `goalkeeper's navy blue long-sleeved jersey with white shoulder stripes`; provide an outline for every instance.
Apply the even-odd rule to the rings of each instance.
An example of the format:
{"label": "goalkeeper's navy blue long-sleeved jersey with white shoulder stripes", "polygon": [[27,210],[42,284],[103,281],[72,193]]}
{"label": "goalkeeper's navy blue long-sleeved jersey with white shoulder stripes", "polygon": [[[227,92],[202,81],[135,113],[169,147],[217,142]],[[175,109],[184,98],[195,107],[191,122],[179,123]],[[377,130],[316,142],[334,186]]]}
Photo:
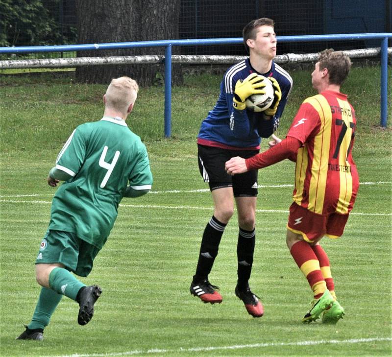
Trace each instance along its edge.
{"label": "goalkeeper's navy blue long-sleeved jersey with white shoulder stripes", "polygon": [[[257,73],[274,77],[282,91],[282,99],[273,118],[266,120],[261,112],[233,108],[234,89],[239,79]],[[221,82],[221,94],[213,110],[201,123],[197,143],[225,149],[254,150],[260,148],[261,138],[268,138],[277,129],[287,98],[293,88],[293,79],[282,67],[272,62],[267,73],[259,73],[250,65],[249,58],[231,66]]]}

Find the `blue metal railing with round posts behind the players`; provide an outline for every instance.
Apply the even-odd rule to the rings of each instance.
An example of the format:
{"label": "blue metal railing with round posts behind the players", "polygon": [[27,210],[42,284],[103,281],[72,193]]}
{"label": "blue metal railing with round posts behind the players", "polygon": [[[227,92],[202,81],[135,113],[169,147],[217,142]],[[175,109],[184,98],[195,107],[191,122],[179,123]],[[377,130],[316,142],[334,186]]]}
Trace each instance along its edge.
{"label": "blue metal railing with round posts behind the players", "polygon": [[[304,35],[304,36],[278,36],[278,42],[316,42],[316,41],[343,41],[343,40],[380,40],[381,48],[381,121],[382,127],[387,127],[388,117],[388,39],[391,32],[385,33],[354,33],[338,35]],[[161,40],[120,42],[89,45],[61,45],[61,46],[22,46],[0,47],[2,53],[35,53],[35,52],[66,52],[103,50],[120,48],[165,47],[165,137],[172,135],[172,46],[211,46],[232,45],[243,43],[242,38],[219,39],[192,39],[192,40]]]}

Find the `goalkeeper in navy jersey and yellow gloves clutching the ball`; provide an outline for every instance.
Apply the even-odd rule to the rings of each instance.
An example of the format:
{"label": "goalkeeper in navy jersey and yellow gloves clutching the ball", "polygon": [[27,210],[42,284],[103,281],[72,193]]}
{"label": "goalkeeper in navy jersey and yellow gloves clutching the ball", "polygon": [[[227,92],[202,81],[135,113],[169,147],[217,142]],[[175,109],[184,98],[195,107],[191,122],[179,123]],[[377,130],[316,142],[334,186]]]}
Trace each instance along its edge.
{"label": "goalkeeper in navy jersey and yellow gloves clutching the ball", "polygon": [[[273,62],[276,35],[271,19],[261,18],[246,24],[243,38],[249,58],[225,72],[218,101],[201,123],[197,137],[199,171],[204,182],[209,184],[214,214],[202,234],[190,291],[205,303],[222,302],[222,296],[217,286],[210,283],[209,275],[225,227],[234,214],[235,203],[238,212],[238,280],[233,290],[250,315],[261,317],[263,305],[249,287],[256,242],[257,170],[231,177],[224,170],[224,163],[232,156],[247,158],[259,152],[261,138],[270,137],[279,125],[293,80]],[[246,109],[245,100],[249,95],[264,93],[265,83],[257,79],[258,74],[272,81],[274,100],[266,111],[255,113]]]}

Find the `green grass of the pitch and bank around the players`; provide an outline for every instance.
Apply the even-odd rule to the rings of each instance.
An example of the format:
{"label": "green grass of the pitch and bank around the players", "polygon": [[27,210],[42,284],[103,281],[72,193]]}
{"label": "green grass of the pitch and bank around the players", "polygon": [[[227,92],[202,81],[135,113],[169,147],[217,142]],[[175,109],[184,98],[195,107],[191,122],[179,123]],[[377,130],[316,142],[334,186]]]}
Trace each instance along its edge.
{"label": "green grass of the pitch and bank around the players", "polygon": [[[54,193],[45,179],[74,126],[101,117],[106,86],[77,85],[70,77],[1,78],[1,356],[390,356],[392,138],[390,129],[377,127],[378,81],[369,79],[376,71],[354,68],[343,88],[357,112],[353,155],[361,185],[343,237],[321,241],[346,312],[336,326],[300,323],[312,294],[285,244],[294,178],[289,161],[259,172],[250,286],[265,315],[252,318],[234,295],[235,216],[210,275],[221,286],[222,304],[190,295],[201,234],[213,212],[197,170],[196,135],[221,79],[203,75],[173,88],[172,139],[163,138],[163,89],[141,89],[128,121],[147,144],[153,189],[123,199],[111,236],[82,279],[103,288],[93,320],[79,326],[77,304],[64,297],[42,343],[15,337],[40,291],[34,262]],[[280,136],[301,100],[314,94],[309,72],[291,74],[295,87]],[[364,78],[371,81],[367,88],[374,85],[371,106],[359,88]]]}

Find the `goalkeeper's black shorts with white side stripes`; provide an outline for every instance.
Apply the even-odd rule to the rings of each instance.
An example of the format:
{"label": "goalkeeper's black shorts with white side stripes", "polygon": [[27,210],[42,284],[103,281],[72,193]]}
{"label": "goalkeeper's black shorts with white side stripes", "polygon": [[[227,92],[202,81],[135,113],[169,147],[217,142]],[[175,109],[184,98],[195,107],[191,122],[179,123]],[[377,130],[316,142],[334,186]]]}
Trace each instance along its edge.
{"label": "goalkeeper's black shorts with white side stripes", "polygon": [[230,150],[197,144],[199,171],[210,190],[232,187],[234,196],[257,196],[257,170],[231,176],[226,173],[224,163],[234,156],[245,159],[259,153],[259,150]]}

